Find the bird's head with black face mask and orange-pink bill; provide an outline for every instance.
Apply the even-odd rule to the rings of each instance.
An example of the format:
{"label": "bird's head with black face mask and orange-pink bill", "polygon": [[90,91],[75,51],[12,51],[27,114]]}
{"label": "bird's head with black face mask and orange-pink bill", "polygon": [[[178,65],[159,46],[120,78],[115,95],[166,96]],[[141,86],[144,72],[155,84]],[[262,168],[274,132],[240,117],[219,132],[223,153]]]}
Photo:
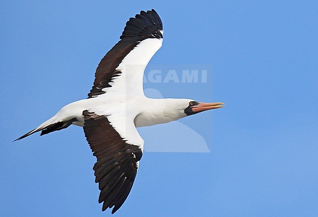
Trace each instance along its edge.
{"label": "bird's head with black face mask and orange-pink bill", "polygon": [[197,114],[202,111],[207,111],[211,109],[219,109],[222,108],[224,103],[199,103],[194,100],[189,100],[187,107],[184,109],[184,113],[187,116],[190,116],[192,114]]}

